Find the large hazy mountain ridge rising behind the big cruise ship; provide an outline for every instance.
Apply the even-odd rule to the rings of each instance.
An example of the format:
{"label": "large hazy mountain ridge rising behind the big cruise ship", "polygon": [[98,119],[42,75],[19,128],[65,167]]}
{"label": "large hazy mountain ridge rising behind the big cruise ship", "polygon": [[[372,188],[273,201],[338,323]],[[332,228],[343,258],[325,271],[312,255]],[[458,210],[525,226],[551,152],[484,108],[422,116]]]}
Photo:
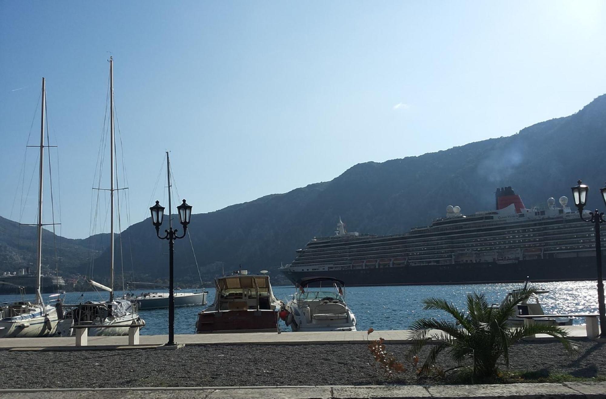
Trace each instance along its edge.
{"label": "large hazy mountain ridge rising behind the big cruise ship", "polygon": [[[193,215],[190,232],[198,264],[205,280],[221,272],[218,261],[224,262],[226,271],[242,264],[255,272],[270,270],[278,278],[280,264],[293,260],[295,249],[314,236],[332,235],[339,216],[351,231],[405,232],[430,224],[445,214],[449,204],[461,206],[463,213],[494,209],[494,191],[502,186],[513,186],[530,207],[544,204],[550,196],[570,196],[570,187],[583,178],[592,187],[590,206],[604,208],[596,189],[606,179],[602,167],[605,131],[603,95],[574,115],[535,124],[513,136],[384,163],[358,164],[325,183]],[[135,275],[141,278],[167,276],[168,244],[155,235],[146,220],[129,227],[122,237],[128,262],[132,253]],[[13,246],[7,244],[5,235],[0,240],[0,257],[4,259],[5,252],[12,256],[9,249]],[[76,243],[73,245],[76,252]],[[175,247],[176,275],[182,281],[197,280],[189,240],[179,240]],[[105,251],[96,262],[107,264],[107,257]],[[73,255],[69,259],[77,262],[80,258]],[[0,267],[4,267],[1,262]],[[70,267],[76,266],[66,265],[65,270]],[[125,269],[130,267],[129,263]]]}

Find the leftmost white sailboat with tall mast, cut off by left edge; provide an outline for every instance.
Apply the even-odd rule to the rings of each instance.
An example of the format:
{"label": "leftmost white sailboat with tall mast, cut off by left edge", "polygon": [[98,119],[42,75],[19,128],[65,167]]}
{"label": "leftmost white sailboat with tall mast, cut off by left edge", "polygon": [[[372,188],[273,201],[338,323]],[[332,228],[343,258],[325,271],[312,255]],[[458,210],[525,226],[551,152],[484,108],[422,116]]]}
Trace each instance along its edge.
{"label": "leftmost white sailboat with tall mast, cut off by left edge", "polygon": [[[0,338],[45,337],[55,334],[57,327],[57,312],[54,306],[45,304],[40,289],[42,275],[42,188],[44,186],[44,111],[46,105],[45,81],[42,78],[42,119],[40,123],[40,155],[38,181],[38,245],[36,264],[38,266],[38,281],[36,285],[36,301],[31,303],[24,299],[24,289],[21,289],[21,301],[0,304]],[[38,146],[36,146],[38,147]],[[47,146],[48,147],[48,146]],[[6,284],[6,283],[5,283]]]}

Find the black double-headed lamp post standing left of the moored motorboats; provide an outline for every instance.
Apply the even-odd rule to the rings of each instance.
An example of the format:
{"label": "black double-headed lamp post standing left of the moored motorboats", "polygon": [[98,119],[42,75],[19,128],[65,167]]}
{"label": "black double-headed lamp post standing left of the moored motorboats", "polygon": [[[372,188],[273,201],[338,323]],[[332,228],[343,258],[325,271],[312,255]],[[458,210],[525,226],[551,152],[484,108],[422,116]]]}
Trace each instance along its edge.
{"label": "black double-headed lamp post standing left of the moored motorboats", "polygon": [[168,292],[168,342],[167,346],[175,345],[175,284],[173,281],[173,252],[175,249],[175,240],[183,238],[187,232],[187,225],[190,223],[191,218],[191,206],[183,203],[177,207],[179,211],[179,222],[183,226],[183,234],[177,235],[177,229],[173,229],[172,226],[168,230],[164,230],[166,233],[164,237],[160,236],[160,226],[162,226],[162,218],[164,218],[164,207],[160,205],[160,201],[156,201],[156,205],[150,207],[151,211],[151,223],[156,227],[156,235],[160,240],[168,240],[168,280],[170,281]]}

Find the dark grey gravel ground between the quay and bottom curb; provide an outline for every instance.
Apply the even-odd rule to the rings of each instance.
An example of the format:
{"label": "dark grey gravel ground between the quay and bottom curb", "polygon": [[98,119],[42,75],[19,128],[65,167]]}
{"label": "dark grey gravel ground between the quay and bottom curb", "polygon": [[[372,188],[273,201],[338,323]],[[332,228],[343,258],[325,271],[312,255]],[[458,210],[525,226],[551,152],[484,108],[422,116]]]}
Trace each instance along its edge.
{"label": "dark grey gravel ground between the quay and bottom curb", "polygon": [[[577,341],[572,356],[553,342],[510,349],[510,370],[606,375],[606,344]],[[404,360],[410,346],[387,344]],[[447,354],[439,364],[455,366]],[[408,366],[408,364],[405,364]],[[411,368],[411,367],[410,367]],[[24,377],[24,372],[27,377]],[[206,345],[178,350],[0,351],[0,388],[428,384],[412,371],[388,380],[364,344]],[[432,380],[430,383],[438,383]]]}

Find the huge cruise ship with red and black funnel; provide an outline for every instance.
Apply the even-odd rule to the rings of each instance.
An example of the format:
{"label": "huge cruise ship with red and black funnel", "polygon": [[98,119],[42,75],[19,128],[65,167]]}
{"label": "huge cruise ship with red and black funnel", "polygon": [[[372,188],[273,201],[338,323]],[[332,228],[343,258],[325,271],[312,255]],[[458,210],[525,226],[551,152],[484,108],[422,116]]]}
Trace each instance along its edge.
{"label": "huge cruise ship with red and black funnel", "polygon": [[567,197],[531,209],[511,187],[495,197],[496,210],[464,215],[449,205],[431,226],[398,235],[348,233],[339,218],[335,236],[314,238],[280,270],[293,283],[333,277],[348,286],[596,279],[593,224]]}

